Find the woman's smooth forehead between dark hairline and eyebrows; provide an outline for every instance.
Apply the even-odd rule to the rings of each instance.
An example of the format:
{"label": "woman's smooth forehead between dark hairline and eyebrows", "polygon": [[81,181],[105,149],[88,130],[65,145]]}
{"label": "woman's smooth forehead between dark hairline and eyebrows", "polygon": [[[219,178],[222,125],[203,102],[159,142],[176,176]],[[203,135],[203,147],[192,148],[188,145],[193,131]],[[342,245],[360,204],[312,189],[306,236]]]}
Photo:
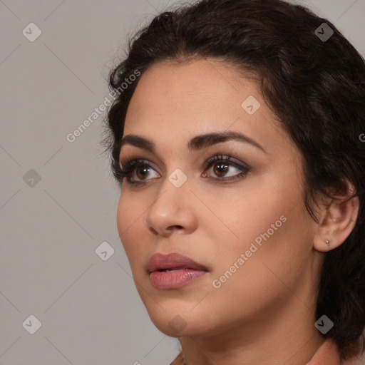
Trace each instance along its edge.
{"label": "woman's smooth forehead between dark hairline and eyebrows", "polygon": [[[247,103],[255,113],[247,113]],[[221,130],[244,133],[261,145],[284,137],[252,77],[212,59],[164,61],[148,68],[130,101],[124,128],[127,135],[150,136],[171,148],[194,135]]]}

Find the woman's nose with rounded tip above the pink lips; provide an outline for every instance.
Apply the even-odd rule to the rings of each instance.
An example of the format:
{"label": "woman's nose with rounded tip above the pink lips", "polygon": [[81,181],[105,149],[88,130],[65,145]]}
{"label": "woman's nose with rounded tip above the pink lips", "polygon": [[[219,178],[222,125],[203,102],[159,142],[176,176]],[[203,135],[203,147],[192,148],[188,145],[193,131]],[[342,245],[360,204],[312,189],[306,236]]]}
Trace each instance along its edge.
{"label": "woman's nose with rounded tip above the pink lips", "polygon": [[168,237],[188,234],[197,227],[195,205],[198,200],[190,191],[188,180],[180,187],[165,179],[158,197],[145,214],[145,225],[153,235]]}

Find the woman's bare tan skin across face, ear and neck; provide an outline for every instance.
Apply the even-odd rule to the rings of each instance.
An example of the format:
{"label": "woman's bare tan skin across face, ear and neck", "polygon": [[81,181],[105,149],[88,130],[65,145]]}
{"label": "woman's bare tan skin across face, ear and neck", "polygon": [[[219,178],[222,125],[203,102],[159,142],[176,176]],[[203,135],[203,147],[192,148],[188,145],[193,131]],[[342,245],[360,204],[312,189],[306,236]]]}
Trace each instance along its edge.
{"label": "woman's bare tan skin across face, ear and neck", "polygon": [[[253,115],[241,106],[247,96],[261,104]],[[244,133],[266,153],[235,140],[187,150],[195,135],[224,130]],[[128,107],[124,136],[130,134],[153,140],[157,148],[121,149],[122,165],[143,158],[152,169],[143,175],[136,168],[132,175],[145,185],[123,180],[117,216],[136,287],[155,326],[180,338],[187,364],[306,364],[324,341],[314,327],[324,240],[331,250],[344,242],[358,200],[340,205],[323,198],[320,224],[312,220],[304,206],[299,150],[255,81],[224,62],[164,61],[148,68]],[[215,155],[232,155],[252,169],[238,180],[214,180],[241,172],[230,165],[219,174],[219,162],[205,169]],[[177,168],[187,177],[181,187],[168,180]],[[220,288],[213,287],[282,215],[286,222]],[[157,289],[146,272],[157,252],[178,252],[208,272],[185,287]],[[172,320],[181,324],[179,331],[169,325]]]}

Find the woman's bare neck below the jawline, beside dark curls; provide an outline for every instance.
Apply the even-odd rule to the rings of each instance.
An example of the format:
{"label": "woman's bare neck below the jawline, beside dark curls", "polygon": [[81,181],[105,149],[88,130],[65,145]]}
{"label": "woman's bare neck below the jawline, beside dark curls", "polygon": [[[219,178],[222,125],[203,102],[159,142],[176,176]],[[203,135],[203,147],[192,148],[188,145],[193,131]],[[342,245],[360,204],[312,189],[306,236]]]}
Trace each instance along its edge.
{"label": "woman's bare neck below the jawline, beside dark curls", "polygon": [[[298,299],[294,297],[293,301]],[[297,307],[294,306],[294,307]],[[182,336],[187,365],[305,365],[324,342],[314,312],[285,308],[260,314],[255,323],[235,324],[214,336]],[[276,320],[273,320],[275,319]]]}

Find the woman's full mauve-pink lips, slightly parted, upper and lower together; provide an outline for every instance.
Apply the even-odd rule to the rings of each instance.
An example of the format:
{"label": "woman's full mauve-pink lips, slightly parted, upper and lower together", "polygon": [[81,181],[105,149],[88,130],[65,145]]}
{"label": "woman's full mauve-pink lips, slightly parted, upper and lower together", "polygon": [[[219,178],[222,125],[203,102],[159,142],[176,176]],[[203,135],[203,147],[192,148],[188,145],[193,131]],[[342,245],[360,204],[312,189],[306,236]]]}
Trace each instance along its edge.
{"label": "woman's full mauve-pink lips, slightly parted, upper and lower together", "polygon": [[[174,272],[164,272],[165,269],[180,269]],[[177,289],[202,277],[208,270],[202,264],[198,264],[190,257],[178,253],[168,255],[155,254],[150,257],[147,271],[151,284],[158,289]]]}

